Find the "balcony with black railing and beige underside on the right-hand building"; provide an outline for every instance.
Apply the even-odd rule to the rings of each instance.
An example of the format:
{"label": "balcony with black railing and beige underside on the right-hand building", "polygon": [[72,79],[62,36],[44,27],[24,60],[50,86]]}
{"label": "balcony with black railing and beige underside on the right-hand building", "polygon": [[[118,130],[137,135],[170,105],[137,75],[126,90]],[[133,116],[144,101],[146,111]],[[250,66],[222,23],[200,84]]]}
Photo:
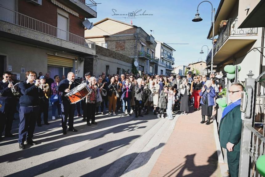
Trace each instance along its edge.
{"label": "balcony with black railing and beige underside on the right-hand building", "polygon": [[[238,28],[238,19],[229,19],[214,44],[214,65],[221,65],[227,58],[257,40],[258,28]],[[206,58],[210,64],[212,50]]]}

